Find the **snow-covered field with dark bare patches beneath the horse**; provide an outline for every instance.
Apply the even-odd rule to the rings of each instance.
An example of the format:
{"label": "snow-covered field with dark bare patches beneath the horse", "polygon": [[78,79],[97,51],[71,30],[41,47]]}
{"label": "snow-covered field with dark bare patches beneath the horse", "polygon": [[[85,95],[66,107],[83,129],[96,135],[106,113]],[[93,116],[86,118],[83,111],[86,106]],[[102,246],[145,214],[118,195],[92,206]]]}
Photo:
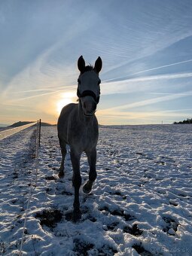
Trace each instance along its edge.
{"label": "snow-covered field with dark bare patches beneath the horse", "polygon": [[0,142],[0,254],[19,254],[26,213],[23,255],[192,255],[190,124],[100,127],[98,177],[76,224],[69,153],[59,179],[56,127],[42,127],[37,170],[35,135]]}

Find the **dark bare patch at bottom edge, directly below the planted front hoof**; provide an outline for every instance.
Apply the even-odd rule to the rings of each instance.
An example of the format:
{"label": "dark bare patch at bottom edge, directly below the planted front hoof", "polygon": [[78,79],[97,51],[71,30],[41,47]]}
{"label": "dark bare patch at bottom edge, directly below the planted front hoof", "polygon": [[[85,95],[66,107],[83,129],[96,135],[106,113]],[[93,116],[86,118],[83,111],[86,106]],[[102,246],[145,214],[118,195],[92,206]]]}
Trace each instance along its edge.
{"label": "dark bare patch at bottom edge, directly below the planted front hoof", "polygon": [[93,249],[93,244],[88,243],[86,241],[81,241],[80,239],[74,239],[74,251],[76,252],[77,255],[84,255],[88,256],[89,251]]}

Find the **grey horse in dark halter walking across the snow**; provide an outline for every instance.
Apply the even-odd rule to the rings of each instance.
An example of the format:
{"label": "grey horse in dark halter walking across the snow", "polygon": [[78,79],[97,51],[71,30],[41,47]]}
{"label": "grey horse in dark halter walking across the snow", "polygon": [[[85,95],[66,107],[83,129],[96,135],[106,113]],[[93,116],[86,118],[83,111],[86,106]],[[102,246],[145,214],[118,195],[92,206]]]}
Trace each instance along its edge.
{"label": "grey horse in dark halter walking across the snow", "polygon": [[102,69],[102,59],[98,57],[95,65],[85,66],[84,57],[78,59],[78,103],[64,106],[57,122],[59,145],[62,160],[59,167],[59,178],[65,175],[64,161],[66,145],[70,147],[72,161],[72,184],[75,187],[72,221],[81,219],[79,189],[81,187],[80,159],[85,152],[90,166],[89,179],[83,186],[84,194],[90,194],[93,182],[96,180],[96,145],[99,136],[96,106],[99,103],[100,83],[99,72]]}

